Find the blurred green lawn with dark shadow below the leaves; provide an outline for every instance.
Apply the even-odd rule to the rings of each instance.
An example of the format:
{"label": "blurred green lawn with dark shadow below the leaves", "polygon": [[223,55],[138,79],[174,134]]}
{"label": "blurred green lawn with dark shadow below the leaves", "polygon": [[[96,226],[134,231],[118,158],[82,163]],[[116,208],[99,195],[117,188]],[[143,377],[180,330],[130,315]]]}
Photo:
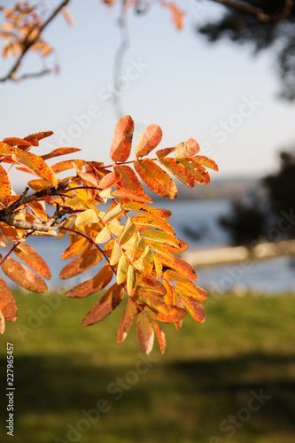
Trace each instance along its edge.
{"label": "blurred green lawn with dark shadow below the leaves", "polygon": [[[295,441],[295,297],[290,294],[209,301],[206,323],[187,317],[179,331],[165,325],[167,352],[161,355],[155,344],[147,363],[140,362],[135,328],[116,344],[123,306],[102,323],[82,328],[97,295],[60,297],[54,309],[46,296],[19,292],[16,297],[18,321],[7,324],[0,354],[5,387],[5,346],[14,344],[14,438],[2,426],[2,442]],[[49,316],[38,324],[38,313]],[[251,412],[251,392],[261,389],[271,398]],[[82,410],[97,408],[99,400],[105,400],[105,412],[96,423],[81,421]],[[226,428],[222,421],[229,416],[237,416],[238,427]],[[68,424],[86,428],[67,439]]]}

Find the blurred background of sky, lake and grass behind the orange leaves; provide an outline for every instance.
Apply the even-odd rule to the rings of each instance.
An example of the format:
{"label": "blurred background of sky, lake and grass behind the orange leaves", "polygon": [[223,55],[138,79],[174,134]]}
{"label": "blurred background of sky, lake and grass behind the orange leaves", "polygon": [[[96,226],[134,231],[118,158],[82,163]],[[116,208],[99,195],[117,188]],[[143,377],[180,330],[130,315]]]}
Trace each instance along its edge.
{"label": "blurred background of sky, lake and grass behind the orange leaves", "polygon": [[[59,3],[40,2],[43,16]],[[71,0],[74,26],[59,14],[43,35],[55,51],[27,54],[19,71],[56,74],[0,85],[0,137],[54,131],[36,153],[74,146],[72,158],[108,164],[115,124],[129,114],[135,141],[156,123],[160,147],[193,137],[220,167],[204,187],[177,183],[175,201],[151,196],[172,210],[208,291],[206,323],[167,328],[164,356],[144,357],[135,330],[115,344],[120,307],[82,328],[100,295],[65,299],[66,240],[30,240],[53,278],[50,296],[16,292],[18,321],[1,338],[3,380],[6,341],[15,346],[15,441],[295,440],[295,12],[293,2],[281,19],[284,1],[242,3],[276,19],[179,1],[179,29],[169,3],[134,2],[122,19],[120,2]],[[0,76],[11,66],[2,58]]]}

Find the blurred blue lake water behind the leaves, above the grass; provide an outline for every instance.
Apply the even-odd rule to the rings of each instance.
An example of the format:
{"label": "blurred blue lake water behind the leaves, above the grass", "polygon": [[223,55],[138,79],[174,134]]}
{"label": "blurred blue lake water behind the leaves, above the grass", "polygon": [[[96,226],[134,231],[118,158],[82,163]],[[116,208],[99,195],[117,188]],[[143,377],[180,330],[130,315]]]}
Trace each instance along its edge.
{"label": "blurred blue lake water behind the leaves, above the grass", "polygon": [[[230,203],[226,199],[219,200],[167,200],[157,201],[155,206],[172,211],[170,223],[175,228],[176,236],[189,243],[192,248],[207,248],[229,244],[229,237],[221,229],[218,219],[223,214],[230,213]],[[73,287],[93,276],[93,269],[82,276],[70,280],[59,280],[58,274],[68,260],[60,256],[69,245],[64,237],[57,240],[54,237],[29,237],[28,244],[32,245],[50,266],[52,279],[50,289],[58,285]],[[197,269],[198,284],[211,289],[216,294],[219,291],[231,289],[237,292],[246,290],[276,293],[280,291],[295,291],[295,268],[291,268],[291,260],[285,257],[274,260],[255,261],[248,266],[235,264],[212,268]],[[6,278],[5,278],[6,280]]]}

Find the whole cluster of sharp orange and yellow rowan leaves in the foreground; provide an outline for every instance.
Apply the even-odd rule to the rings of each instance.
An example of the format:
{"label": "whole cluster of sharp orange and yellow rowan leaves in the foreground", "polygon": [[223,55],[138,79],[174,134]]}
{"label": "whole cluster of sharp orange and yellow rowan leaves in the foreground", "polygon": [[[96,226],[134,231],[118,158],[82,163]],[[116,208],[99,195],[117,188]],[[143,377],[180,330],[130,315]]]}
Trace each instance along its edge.
{"label": "whole cluster of sharp orange and yellow rowan leaves in the foreground", "polygon": [[[206,167],[215,170],[218,167],[212,159],[198,155],[198,143],[192,138],[173,148],[160,149],[154,159],[146,158],[162,138],[161,128],[154,124],[148,126],[137,141],[136,159],[128,160],[133,132],[131,117],[121,118],[111,146],[114,163],[108,166],[74,159],[50,167],[46,160],[80,151],[62,147],[41,156],[29,152],[51,132],[23,139],[5,138],[0,143],[0,161],[39,178],[27,183],[30,193],[27,188],[22,195],[15,195],[9,176],[0,165],[0,245],[6,246],[5,239],[13,242],[0,264],[4,274],[14,283],[28,291],[44,292],[47,287],[43,278],[50,278],[50,269],[26,244],[26,239],[30,235],[50,235],[59,239],[68,234],[70,245],[61,258],[71,261],[60,271],[60,278],[82,274],[102,260],[105,266],[100,268],[99,265],[97,274],[68,291],[67,297],[88,297],[106,288],[113,277],[116,279],[82,324],[98,323],[111,314],[126,291],[128,297],[120,321],[118,343],[126,338],[136,319],[141,349],[146,353],[151,351],[155,330],[163,353],[165,335],[158,322],[174,323],[178,329],[186,310],[195,320],[204,322],[201,302],[206,299],[206,292],[192,283],[197,281],[194,269],[175,255],[188,245],[175,237],[168,223],[171,212],[150,205],[152,200],[139,178],[159,196],[176,198],[175,182],[162,167],[190,188],[195,183],[209,183]],[[169,157],[169,154],[174,156]],[[69,170],[74,170],[74,175],[72,172],[58,179],[59,173]],[[111,205],[104,212],[101,206],[107,202]],[[55,208],[52,216],[48,214],[50,206]],[[33,270],[12,259],[12,253]],[[3,332],[4,318],[15,321],[17,305],[2,278],[0,310]]]}

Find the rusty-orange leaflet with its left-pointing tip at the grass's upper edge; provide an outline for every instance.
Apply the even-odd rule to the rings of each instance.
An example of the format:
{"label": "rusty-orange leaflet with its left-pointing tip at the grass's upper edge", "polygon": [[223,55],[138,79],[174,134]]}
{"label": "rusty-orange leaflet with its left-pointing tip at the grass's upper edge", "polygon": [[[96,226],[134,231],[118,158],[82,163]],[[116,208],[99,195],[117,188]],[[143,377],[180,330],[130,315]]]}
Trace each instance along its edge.
{"label": "rusty-orange leaflet with its left-pointing tip at the grass's upper edge", "polygon": [[71,291],[66,292],[66,296],[72,299],[82,299],[89,297],[94,292],[101,291],[113,278],[113,270],[107,263],[104,268],[100,269],[98,274],[82,284],[78,284]]}

